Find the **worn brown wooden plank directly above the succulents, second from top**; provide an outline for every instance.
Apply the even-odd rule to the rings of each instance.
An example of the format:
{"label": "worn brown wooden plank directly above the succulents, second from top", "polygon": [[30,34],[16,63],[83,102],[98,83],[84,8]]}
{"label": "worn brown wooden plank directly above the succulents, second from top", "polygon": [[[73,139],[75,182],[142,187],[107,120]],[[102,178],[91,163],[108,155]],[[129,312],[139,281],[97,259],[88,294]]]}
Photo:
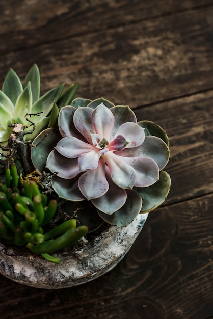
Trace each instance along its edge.
{"label": "worn brown wooden plank directly above the succulents, second from top", "polygon": [[0,57],[24,77],[36,62],[42,92],[81,81],[79,95],[131,107],[213,87],[213,7],[36,46]]}

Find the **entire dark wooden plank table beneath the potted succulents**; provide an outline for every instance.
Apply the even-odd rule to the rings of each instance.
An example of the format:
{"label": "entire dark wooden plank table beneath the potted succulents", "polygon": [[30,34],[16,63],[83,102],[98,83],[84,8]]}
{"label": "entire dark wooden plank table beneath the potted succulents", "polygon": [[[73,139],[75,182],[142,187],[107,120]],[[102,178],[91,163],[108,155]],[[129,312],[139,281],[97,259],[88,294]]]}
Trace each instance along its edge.
{"label": "entire dark wooden plank table beneath the potted succulents", "polygon": [[120,264],[88,284],[3,276],[0,317],[213,318],[213,0],[0,0],[0,78],[37,63],[42,93],[129,104],[170,136],[168,200]]}

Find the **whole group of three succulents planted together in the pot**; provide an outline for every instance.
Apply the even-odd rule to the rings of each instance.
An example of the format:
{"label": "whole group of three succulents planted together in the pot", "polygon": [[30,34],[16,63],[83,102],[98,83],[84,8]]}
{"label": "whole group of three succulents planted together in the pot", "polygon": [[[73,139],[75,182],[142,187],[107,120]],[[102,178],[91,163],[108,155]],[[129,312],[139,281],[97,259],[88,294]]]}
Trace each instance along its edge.
{"label": "whole group of three succulents planted together in the pot", "polygon": [[166,132],[128,106],[74,98],[77,88],[39,97],[34,65],[23,85],[10,70],[0,91],[0,236],[53,262],[103,223],[125,227],[161,205],[171,182]]}

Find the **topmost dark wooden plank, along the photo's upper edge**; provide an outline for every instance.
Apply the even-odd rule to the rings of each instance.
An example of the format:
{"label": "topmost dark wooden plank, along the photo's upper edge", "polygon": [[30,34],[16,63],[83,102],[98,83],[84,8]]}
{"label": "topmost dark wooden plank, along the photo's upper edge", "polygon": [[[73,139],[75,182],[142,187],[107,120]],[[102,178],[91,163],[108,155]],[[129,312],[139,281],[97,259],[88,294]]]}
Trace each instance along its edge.
{"label": "topmost dark wooden plank, along the photo's upper edge", "polygon": [[175,12],[212,6],[212,0],[0,2],[0,52],[99,32]]}

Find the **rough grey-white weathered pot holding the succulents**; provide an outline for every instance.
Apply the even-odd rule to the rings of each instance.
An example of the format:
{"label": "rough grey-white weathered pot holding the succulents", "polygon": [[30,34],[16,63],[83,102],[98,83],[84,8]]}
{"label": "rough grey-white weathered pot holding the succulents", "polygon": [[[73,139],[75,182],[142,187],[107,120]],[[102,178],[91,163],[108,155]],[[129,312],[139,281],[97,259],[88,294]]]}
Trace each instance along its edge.
{"label": "rough grey-white weathered pot holding the succulents", "polygon": [[0,273],[37,288],[66,288],[91,281],[114,268],[128,252],[147,219],[139,215],[127,227],[111,226],[75,254],[58,255],[59,265],[35,254],[22,256],[0,243]]}

